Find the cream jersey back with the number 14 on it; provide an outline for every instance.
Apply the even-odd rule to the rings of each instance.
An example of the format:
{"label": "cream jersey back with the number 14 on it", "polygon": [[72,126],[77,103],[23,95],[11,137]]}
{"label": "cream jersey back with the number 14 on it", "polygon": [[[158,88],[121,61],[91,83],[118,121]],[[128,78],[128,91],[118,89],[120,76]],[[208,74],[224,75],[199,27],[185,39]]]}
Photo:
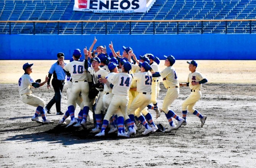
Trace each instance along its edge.
{"label": "cream jersey back with the number 14 on it", "polygon": [[131,87],[132,76],[128,73],[118,73],[110,80],[114,85],[112,88],[112,94],[114,95],[126,95]]}

